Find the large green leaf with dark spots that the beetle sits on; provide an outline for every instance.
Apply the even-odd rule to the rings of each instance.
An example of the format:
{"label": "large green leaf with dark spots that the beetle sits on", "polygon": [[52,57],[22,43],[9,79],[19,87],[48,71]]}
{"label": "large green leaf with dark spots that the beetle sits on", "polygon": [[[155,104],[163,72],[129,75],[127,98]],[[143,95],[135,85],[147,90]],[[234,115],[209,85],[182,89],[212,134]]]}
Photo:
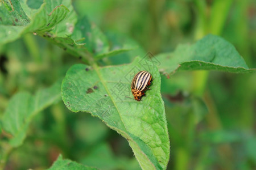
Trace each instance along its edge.
{"label": "large green leaf with dark spots that the beetle sits on", "polygon": [[[145,63],[138,57],[116,67],[74,65],[63,80],[61,95],[71,111],[89,112],[125,137],[143,169],[166,169],[170,142],[160,75],[156,66],[143,67]],[[130,83],[141,70],[150,71],[154,81],[147,96],[136,101]]]}

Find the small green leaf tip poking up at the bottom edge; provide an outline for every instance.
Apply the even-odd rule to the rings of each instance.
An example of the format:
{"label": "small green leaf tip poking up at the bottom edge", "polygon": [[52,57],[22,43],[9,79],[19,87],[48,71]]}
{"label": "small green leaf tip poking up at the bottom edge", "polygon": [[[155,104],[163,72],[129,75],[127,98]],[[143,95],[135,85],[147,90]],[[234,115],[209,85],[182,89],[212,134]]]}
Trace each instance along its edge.
{"label": "small green leaf tip poking up at the bottom edge", "polygon": [[69,159],[63,159],[62,155],[58,157],[58,159],[53,163],[51,168],[48,170],[97,170],[97,168],[93,167],[87,167],[85,165],[73,162],[72,160]]}

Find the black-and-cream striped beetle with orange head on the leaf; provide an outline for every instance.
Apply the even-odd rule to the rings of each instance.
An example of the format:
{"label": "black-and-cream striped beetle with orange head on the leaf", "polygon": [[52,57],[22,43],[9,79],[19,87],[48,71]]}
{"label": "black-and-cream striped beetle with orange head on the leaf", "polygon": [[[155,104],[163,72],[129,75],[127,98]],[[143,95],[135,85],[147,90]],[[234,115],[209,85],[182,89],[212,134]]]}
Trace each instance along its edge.
{"label": "black-and-cream striped beetle with orange head on the leaf", "polygon": [[131,81],[131,92],[133,93],[134,99],[141,101],[141,97],[146,90],[150,90],[147,86],[150,86],[152,82],[152,75],[147,71],[139,71],[134,75]]}

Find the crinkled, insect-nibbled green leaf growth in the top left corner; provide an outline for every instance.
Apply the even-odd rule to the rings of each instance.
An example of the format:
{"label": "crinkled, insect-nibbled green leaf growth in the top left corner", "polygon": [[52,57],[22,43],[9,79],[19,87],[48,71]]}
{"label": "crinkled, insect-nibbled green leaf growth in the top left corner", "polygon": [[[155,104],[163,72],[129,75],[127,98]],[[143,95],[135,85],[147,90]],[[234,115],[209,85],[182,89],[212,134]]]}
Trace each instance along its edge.
{"label": "crinkled, insect-nibbled green leaf growth in the top left corner", "polygon": [[30,8],[24,0],[0,1],[0,44],[32,32],[73,56],[83,57],[86,63],[90,60],[88,53],[101,59],[134,49],[126,42],[119,42],[123,45],[112,48],[100,28],[86,17],[77,19],[70,0],[45,0],[38,9]]}

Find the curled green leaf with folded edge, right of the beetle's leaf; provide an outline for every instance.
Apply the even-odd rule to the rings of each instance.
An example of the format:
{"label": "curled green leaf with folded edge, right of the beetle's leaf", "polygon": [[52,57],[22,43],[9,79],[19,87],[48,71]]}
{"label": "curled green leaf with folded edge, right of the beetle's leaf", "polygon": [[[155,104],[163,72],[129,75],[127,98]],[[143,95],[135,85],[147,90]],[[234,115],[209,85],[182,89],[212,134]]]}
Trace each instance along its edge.
{"label": "curled green leaf with folded edge, right of the beetle's leaf", "polygon": [[221,37],[208,35],[193,45],[179,45],[173,53],[159,54],[159,70],[174,73],[181,70],[218,70],[251,73],[232,44]]}

